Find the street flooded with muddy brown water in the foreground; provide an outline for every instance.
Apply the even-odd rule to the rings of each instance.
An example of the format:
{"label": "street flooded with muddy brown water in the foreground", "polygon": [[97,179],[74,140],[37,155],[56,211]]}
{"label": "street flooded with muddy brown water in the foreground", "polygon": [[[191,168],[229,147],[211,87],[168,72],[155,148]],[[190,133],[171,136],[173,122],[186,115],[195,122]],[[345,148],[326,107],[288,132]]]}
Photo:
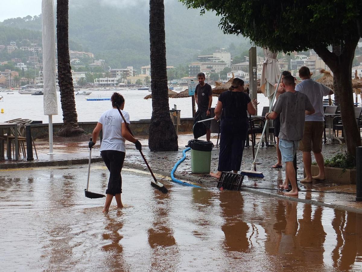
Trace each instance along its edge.
{"label": "street flooded with muddy brown water in the foreground", "polygon": [[[0,271],[361,271],[362,214],[123,169],[123,209],[87,165],[0,170]],[[92,164],[89,190],[109,173]]]}

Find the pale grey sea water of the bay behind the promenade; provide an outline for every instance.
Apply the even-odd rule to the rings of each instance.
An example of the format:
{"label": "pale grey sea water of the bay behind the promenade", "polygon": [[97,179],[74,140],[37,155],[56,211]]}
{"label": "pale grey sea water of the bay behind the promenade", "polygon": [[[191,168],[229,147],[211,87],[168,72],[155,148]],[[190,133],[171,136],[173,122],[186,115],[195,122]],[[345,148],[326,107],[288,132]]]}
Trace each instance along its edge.
{"label": "pale grey sea water of the bay behind the promenade", "polygon": [[[75,94],[80,91],[90,91],[90,95],[75,95],[76,110],[79,122],[98,121],[101,114],[112,107],[110,100],[103,101],[87,101],[87,98],[110,98],[113,90],[88,90],[76,89]],[[125,98],[125,111],[129,112],[130,120],[136,121],[141,119],[150,119],[152,115],[152,99],[144,99],[145,96],[151,94],[147,90],[118,90]],[[180,92],[180,91],[176,91]],[[0,100],[0,122],[11,119],[22,118],[31,119],[33,121],[43,121],[48,123],[49,117],[44,115],[43,95],[19,94],[17,90],[0,92],[3,98]],[[58,115],[53,115],[53,123],[63,122],[62,106],[60,104],[60,92],[58,96]],[[359,95],[358,95],[359,96]],[[327,97],[325,97],[327,98]],[[333,95],[332,95],[333,99]],[[258,115],[262,114],[263,107],[269,106],[269,100],[264,94],[258,94],[259,102],[257,110]],[[212,107],[216,106],[218,97],[213,96]],[[361,104],[361,98],[358,97]],[[176,108],[181,110],[181,118],[192,117],[191,97],[187,98],[169,98],[170,110]]]}

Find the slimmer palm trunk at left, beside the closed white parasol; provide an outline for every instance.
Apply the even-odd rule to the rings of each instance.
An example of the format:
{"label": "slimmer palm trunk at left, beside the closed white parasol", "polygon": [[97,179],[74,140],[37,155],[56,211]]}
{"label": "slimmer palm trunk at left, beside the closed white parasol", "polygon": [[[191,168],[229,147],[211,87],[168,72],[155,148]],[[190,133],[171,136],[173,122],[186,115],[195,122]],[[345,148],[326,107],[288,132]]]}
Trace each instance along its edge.
{"label": "slimmer palm trunk at left, beside the closed white parasol", "polygon": [[79,128],[68,44],[68,0],[56,2],[56,41],[58,49],[58,84],[63,111],[63,126],[58,136],[70,137],[84,132]]}

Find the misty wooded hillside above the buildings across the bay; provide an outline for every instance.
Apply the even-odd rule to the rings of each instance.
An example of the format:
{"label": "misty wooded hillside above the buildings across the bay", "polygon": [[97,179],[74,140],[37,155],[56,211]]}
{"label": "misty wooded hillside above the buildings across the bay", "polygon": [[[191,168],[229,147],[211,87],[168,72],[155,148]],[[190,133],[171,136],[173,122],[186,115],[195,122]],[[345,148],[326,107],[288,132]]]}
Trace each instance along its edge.
{"label": "misty wooded hillside above the buildings across the bay", "polygon": [[[114,3],[114,4],[111,4]],[[127,5],[126,5],[127,3]],[[148,1],[74,0],[69,9],[69,35],[72,50],[91,51],[112,68],[150,63]],[[214,13],[199,15],[176,0],[165,1],[165,31],[168,65],[195,61],[197,54],[215,48],[233,48],[240,54],[250,47],[243,37],[225,35]],[[14,18],[0,26],[41,30],[41,16]],[[1,39],[1,37],[0,37]],[[207,50],[210,49],[210,50]]]}

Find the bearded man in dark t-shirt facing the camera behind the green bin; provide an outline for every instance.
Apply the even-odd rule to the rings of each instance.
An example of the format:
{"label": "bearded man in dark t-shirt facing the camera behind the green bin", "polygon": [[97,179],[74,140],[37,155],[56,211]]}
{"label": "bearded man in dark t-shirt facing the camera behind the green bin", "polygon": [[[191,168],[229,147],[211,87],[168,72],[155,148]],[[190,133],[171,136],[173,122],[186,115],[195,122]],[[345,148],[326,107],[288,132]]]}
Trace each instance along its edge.
{"label": "bearded man in dark t-shirt facing the camera behind the green bin", "polygon": [[[205,83],[205,74],[198,73],[197,81],[199,82],[199,84],[196,86],[194,94],[195,102],[197,104],[197,112],[195,114],[194,123],[210,118],[212,104],[211,86]],[[210,141],[211,121],[206,121],[204,122],[204,124],[206,126],[206,140]]]}

